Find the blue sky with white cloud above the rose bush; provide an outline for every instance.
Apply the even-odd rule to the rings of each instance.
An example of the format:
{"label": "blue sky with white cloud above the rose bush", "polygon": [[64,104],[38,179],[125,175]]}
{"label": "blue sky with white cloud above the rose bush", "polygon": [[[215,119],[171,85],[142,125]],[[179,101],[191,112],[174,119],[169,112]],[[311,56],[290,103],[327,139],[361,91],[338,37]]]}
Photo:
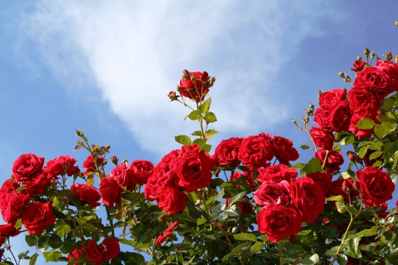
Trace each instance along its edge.
{"label": "blue sky with white cloud above the rose bush", "polygon": [[[261,131],[309,144],[301,120],[319,89],[346,83],[364,47],[382,57],[398,28],[392,1],[229,1],[187,4],[20,1],[0,4],[0,180],[23,153],[70,154],[81,128],[120,159],[157,163],[197,129],[168,103],[181,71],[216,76],[221,134]],[[349,74],[353,77],[352,74]],[[312,151],[301,151],[307,160]],[[396,197],[396,195],[395,195]],[[393,202],[392,202],[393,203]]]}

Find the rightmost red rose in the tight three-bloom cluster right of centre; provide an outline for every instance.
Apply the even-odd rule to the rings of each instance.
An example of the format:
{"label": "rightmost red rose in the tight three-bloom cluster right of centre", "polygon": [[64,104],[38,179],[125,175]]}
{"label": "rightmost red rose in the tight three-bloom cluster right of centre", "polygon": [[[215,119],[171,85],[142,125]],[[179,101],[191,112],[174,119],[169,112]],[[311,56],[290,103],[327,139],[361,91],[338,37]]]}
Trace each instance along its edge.
{"label": "rightmost red rose in the tight three-bloom cluster right of centre", "polygon": [[325,206],[325,194],[311,178],[293,181],[290,193],[293,203],[301,214],[303,222],[313,222]]}

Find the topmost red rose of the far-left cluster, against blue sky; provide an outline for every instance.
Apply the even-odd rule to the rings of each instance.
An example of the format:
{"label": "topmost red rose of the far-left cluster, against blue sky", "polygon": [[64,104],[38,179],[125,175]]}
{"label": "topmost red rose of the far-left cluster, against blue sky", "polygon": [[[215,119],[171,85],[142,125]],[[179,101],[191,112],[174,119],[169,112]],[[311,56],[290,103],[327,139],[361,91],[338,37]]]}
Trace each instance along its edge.
{"label": "topmost red rose of the far-left cluster, against blue sky", "polygon": [[29,180],[30,176],[43,168],[44,157],[35,154],[23,154],[14,161],[11,177],[19,182]]}

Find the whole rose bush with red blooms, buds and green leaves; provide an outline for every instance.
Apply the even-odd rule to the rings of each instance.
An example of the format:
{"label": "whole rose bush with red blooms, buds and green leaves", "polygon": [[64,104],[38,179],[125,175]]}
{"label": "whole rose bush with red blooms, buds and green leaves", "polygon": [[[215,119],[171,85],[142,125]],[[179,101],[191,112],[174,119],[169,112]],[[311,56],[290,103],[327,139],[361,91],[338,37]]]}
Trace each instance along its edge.
{"label": "whole rose bush with red blooms, buds and green leaves", "polygon": [[319,107],[293,120],[314,145],[301,146],[307,162],[294,162],[291,140],[265,132],[210,154],[216,79],[187,70],[168,96],[199,130],[176,136],[182,147],[156,165],[119,162],[80,129],[82,171],[69,155],[21,155],[0,188],[0,264],[36,263],[38,251],[12,252],[21,234],[46,261],[69,264],[398,264],[398,201],[387,205],[398,175],[398,64],[391,53],[364,55],[354,81],[340,73],[350,87],[319,91]]}

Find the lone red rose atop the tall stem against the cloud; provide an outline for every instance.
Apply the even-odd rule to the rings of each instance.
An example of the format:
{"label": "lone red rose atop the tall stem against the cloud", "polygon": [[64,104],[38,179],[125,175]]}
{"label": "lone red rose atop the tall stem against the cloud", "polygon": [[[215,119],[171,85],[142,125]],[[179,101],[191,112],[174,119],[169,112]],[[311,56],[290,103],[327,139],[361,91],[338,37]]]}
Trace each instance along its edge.
{"label": "lone red rose atop the tall stem against the cloud", "polygon": [[182,77],[179,81],[181,95],[190,98],[196,102],[203,101],[209,92],[209,75],[207,72],[191,72],[188,74],[188,80]]}

